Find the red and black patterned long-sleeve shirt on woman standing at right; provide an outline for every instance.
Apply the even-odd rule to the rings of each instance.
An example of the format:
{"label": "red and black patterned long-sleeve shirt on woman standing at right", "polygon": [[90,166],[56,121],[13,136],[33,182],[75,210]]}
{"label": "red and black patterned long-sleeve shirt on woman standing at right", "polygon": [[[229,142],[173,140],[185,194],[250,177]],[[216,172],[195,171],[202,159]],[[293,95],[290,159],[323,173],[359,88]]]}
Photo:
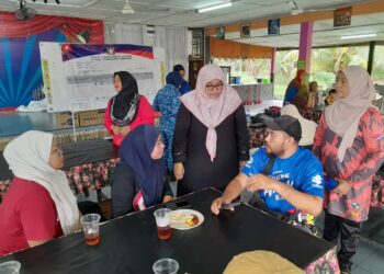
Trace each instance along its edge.
{"label": "red and black patterned long-sleeve shirt on woman standing at right", "polygon": [[369,107],[362,115],[353,144],[342,161],[338,159],[341,139],[329,128],[323,115],[313,151],[328,176],[345,180],[351,186],[351,191],[342,196],[326,191],[325,207],[342,218],[364,221],[370,210],[371,179],[384,161],[384,122],[380,112]]}

